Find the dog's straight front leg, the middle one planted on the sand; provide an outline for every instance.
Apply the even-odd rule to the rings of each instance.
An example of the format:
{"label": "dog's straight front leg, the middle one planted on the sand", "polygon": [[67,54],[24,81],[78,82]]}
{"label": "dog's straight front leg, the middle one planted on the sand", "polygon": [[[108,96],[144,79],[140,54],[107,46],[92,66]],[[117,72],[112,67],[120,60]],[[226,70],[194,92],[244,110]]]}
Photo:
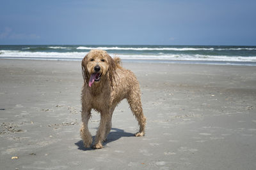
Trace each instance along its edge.
{"label": "dog's straight front leg, the middle one planted on the sand", "polygon": [[100,149],[103,148],[102,141],[104,141],[106,136],[106,126],[108,124],[111,115],[109,113],[100,113],[100,125],[95,138],[95,145],[93,148]]}

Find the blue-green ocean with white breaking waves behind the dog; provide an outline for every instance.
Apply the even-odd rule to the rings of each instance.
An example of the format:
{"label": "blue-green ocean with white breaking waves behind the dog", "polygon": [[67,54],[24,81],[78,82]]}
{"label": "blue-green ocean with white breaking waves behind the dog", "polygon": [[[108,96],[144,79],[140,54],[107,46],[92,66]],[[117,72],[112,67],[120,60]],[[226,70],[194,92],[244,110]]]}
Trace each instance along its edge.
{"label": "blue-green ocean with white breaking waves behind the dog", "polygon": [[0,59],[82,60],[92,49],[124,62],[171,62],[256,66],[256,46],[0,45]]}

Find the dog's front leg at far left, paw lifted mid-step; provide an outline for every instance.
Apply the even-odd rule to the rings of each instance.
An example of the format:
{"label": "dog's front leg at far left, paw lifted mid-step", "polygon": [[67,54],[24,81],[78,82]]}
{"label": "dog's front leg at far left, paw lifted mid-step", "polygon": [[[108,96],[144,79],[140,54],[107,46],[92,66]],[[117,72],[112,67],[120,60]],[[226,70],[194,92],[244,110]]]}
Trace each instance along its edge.
{"label": "dog's front leg at far left, paw lifted mid-step", "polygon": [[84,147],[89,148],[92,145],[92,136],[88,129],[88,120],[91,117],[91,110],[84,110],[82,108],[82,125],[80,129],[80,135],[83,139]]}

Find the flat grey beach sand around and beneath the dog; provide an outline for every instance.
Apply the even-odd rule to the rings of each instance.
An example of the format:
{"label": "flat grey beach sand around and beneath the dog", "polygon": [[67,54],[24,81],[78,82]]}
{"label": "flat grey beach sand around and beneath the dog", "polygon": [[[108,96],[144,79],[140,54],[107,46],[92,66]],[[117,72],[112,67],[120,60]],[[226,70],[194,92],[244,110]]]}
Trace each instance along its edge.
{"label": "flat grey beach sand around and beneath the dog", "polygon": [[[93,150],[79,136],[80,62],[1,59],[0,169],[255,169],[255,66],[123,65],[140,81],[146,136],[123,101]],[[93,136],[98,125],[93,112]]]}

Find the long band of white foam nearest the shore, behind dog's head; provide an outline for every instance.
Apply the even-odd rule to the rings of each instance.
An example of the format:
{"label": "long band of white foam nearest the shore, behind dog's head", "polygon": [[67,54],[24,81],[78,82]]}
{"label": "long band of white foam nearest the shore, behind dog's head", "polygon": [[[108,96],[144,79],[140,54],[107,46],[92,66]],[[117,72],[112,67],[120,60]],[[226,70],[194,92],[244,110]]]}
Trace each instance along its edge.
{"label": "long band of white foam nearest the shore, behind dog's head", "polygon": [[[83,59],[84,52],[21,52],[17,50],[0,50],[0,58],[19,58],[19,59],[59,59],[77,60]],[[114,56],[114,53],[109,55]],[[256,62],[256,56],[226,56],[226,55],[188,55],[188,54],[156,54],[156,55],[126,55],[117,54],[121,59],[136,60],[202,60],[202,61],[230,61],[230,62]]]}

